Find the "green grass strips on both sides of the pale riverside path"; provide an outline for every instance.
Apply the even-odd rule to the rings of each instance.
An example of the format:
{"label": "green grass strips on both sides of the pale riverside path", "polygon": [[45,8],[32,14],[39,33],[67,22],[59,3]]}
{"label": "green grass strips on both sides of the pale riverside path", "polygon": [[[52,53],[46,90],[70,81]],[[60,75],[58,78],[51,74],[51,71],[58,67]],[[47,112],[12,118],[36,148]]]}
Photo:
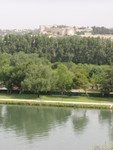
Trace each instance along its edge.
{"label": "green grass strips on both sides of the pale riverside path", "polygon": [[[10,99],[4,101],[3,99]],[[15,99],[15,100],[12,100]],[[77,107],[77,108],[98,108],[98,109],[109,109],[109,105],[101,105],[104,103],[113,103],[113,98],[99,98],[99,97],[87,97],[87,96],[41,96],[40,101],[17,101],[16,99],[27,99],[27,100],[38,100],[38,95],[32,94],[0,94],[0,104],[14,104],[14,105],[33,105],[33,106],[57,106],[57,107]],[[44,100],[44,101],[43,101]],[[45,102],[46,100],[56,101]],[[63,102],[89,102],[89,104],[73,104],[73,103],[59,103],[57,101]],[[90,104],[98,103],[96,104]]]}

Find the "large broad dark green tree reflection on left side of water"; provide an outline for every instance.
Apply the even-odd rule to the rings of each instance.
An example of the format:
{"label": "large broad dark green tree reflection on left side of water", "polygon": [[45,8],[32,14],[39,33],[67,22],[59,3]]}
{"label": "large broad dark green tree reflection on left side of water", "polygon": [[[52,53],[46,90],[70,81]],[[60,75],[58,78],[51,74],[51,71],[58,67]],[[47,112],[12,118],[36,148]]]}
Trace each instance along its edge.
{"label": "large broad dark green tree reflection on left side of water", "polygon": [[[1,107],[0,107],[1,108]],[[50,107],[7,106],[0,126],[13,129],[28,138],[46,136],[51,128],[65,123],[72,109]]]}

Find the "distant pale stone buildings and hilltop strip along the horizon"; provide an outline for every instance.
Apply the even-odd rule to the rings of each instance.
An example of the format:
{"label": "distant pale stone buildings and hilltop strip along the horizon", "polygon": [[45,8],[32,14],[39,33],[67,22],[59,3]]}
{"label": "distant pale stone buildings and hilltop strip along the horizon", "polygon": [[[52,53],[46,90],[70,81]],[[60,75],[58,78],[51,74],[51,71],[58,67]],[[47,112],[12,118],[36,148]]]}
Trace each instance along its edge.
{"label": "distant pale stone buildings and hilltop strip along the horizon", "polygon": [[33,35],[48,35],[49,37],[58,36],[74,36],[79,35],[82,37],[101,37],[113,39],[113,28],[105,27],[76,27],[66,25],[40,25],[39,28],[31,29],[13,29],[13,30],[0,30],[0,36],[7,34],[30,34]]}

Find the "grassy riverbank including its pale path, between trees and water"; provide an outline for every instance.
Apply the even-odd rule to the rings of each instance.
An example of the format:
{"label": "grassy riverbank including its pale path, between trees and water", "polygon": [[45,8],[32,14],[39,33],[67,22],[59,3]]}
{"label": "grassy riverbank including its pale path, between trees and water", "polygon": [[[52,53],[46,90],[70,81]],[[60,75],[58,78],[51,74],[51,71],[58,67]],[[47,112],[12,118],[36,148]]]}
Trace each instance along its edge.
{"label": "grassy riverbank including its pale path, between trees and water", "polygon": [[[27,98],[28,96],[29,99]],[[0,94],[0,104],[113,109],[113,98],[95,98],[87,96],[41,96],[38,98],[36,95],[16,96]]]}

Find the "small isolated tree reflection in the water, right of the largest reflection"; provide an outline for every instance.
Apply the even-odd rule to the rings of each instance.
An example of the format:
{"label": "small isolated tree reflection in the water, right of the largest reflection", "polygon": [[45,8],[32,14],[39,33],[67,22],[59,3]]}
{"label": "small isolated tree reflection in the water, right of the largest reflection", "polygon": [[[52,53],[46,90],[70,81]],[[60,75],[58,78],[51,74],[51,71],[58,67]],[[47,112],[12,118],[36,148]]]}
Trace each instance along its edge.
{"label": "small isolated tree reflection in the water, right of the largest reflection", "polygon": [[88,117],[86,116],[87,110],[78,109],[74,111],[72,115],[72,122],[74,126],[75,133],[83,132],[88,124]]}

